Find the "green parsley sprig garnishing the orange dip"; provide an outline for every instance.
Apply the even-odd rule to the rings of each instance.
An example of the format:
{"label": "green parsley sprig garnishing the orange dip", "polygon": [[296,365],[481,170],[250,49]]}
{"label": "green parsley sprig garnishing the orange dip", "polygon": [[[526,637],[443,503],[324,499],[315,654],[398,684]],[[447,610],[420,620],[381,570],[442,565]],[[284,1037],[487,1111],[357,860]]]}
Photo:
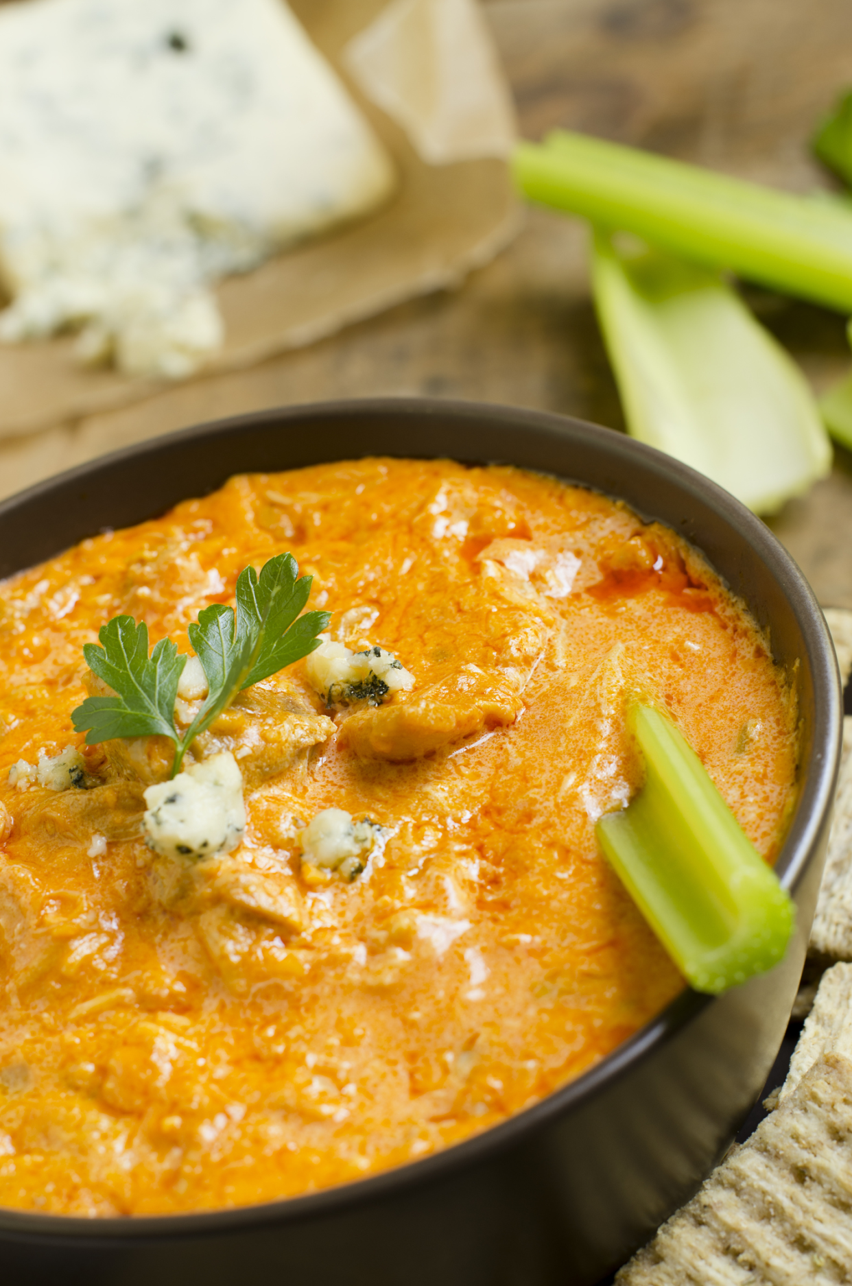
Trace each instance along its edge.
{"label": "green parsley sprig garnishing the orange dip", "polygon": [[88,697],[72,712],[76,732],[86,745],[113,737],[169,737],[175,743],[171,777],[180,772],[189,746],[234,697],[268,679],[319,646],[317,635],[328,625],[328,612],[305,612],[310,576],[299,576],[292,554],[278,554],[257,577],[245,567],[237,579],[237,611],[212,603],[189,626],[192,643],[207,676],[205,702],[183,733],[175,728],[175,698],[187,657],[171,639],[161,639],[148,655],[148,626],[133,616],[113,616],[97,643],[86,643],[89,669],[115,697]]}

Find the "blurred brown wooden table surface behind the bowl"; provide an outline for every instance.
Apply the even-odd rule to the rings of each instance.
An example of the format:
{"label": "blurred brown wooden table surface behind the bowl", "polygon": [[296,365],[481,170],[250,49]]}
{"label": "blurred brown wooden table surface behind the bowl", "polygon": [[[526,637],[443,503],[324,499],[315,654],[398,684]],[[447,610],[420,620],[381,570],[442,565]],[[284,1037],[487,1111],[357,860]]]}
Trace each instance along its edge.
{"label": "blurred brown wooden table surface behind the bowl", "polygon": [[[521,132],[583,129],[794,189],[826,184],[807,138],[852,84],[848,0],[484,0]],[[203,419],[284,403],[429,394],[623,428],[589,302],[584,229],[530,210],[453,293],[403,305],[251,372],[171,388],[39,439],[42,475]],[[748,291],[815,387],[849,361],[844,319]],[[30,444],[32,440],[30,440]],[[852,607],[852,457],[771,520],[822,603]]]}

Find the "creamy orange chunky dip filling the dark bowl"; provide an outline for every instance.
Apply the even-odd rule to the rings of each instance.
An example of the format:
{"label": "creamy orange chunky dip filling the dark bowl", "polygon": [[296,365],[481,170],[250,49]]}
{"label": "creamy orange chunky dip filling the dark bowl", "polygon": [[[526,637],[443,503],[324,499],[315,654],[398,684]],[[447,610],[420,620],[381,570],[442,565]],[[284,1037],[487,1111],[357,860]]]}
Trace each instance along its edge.
{"label": "creamy orange chunky dip filling the dark bowl", "polygon": [[[82,646],[109,617],[189,652],[198,611],[287,549],[332,640],[393,652],[413,687],[326,707],[300,661],[247,689],[187,760],[228,750],[243,778],[245,838],[206,860],[145,845],[163,746],[103,743],[80,786],[44,784],[40,756],[82,742]],[[183,1211],[359,1178],[647,1022],[682,980],[593,829],[638,784],[629,691],[770,862],[793,797],[794,698],[741,604],[671,531],[512,468],[236,477],[6,581],[0,637],[5,1206]],[[349,878],[302,862],[328,808],[377,836]]]}

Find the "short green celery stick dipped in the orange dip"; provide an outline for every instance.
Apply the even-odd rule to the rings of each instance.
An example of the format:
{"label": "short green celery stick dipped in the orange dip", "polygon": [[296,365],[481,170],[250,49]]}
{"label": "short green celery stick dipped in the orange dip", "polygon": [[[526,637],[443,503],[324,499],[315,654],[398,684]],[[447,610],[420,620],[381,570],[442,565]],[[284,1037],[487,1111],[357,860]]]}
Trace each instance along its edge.
{"label": "short green celery stick dipped in the orange dip", "polygon": [[627,718],[646,781],[597,837],[687,983],[716,995],[777,964],[795,908],[671,720],[638,702]]}

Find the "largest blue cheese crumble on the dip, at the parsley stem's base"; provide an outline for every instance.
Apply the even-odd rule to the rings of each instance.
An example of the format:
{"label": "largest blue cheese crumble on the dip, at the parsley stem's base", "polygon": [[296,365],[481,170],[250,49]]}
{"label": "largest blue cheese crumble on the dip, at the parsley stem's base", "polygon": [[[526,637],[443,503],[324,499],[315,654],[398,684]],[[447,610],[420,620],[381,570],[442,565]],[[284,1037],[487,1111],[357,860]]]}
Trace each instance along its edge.
{"label": "largest blue cheese crumble on the dip, at the parsley stem's base", "polygon": [[145,791],[145,838],[167,858],[230,853],[246,831],[242,773],[230,751],[192,764]]}

